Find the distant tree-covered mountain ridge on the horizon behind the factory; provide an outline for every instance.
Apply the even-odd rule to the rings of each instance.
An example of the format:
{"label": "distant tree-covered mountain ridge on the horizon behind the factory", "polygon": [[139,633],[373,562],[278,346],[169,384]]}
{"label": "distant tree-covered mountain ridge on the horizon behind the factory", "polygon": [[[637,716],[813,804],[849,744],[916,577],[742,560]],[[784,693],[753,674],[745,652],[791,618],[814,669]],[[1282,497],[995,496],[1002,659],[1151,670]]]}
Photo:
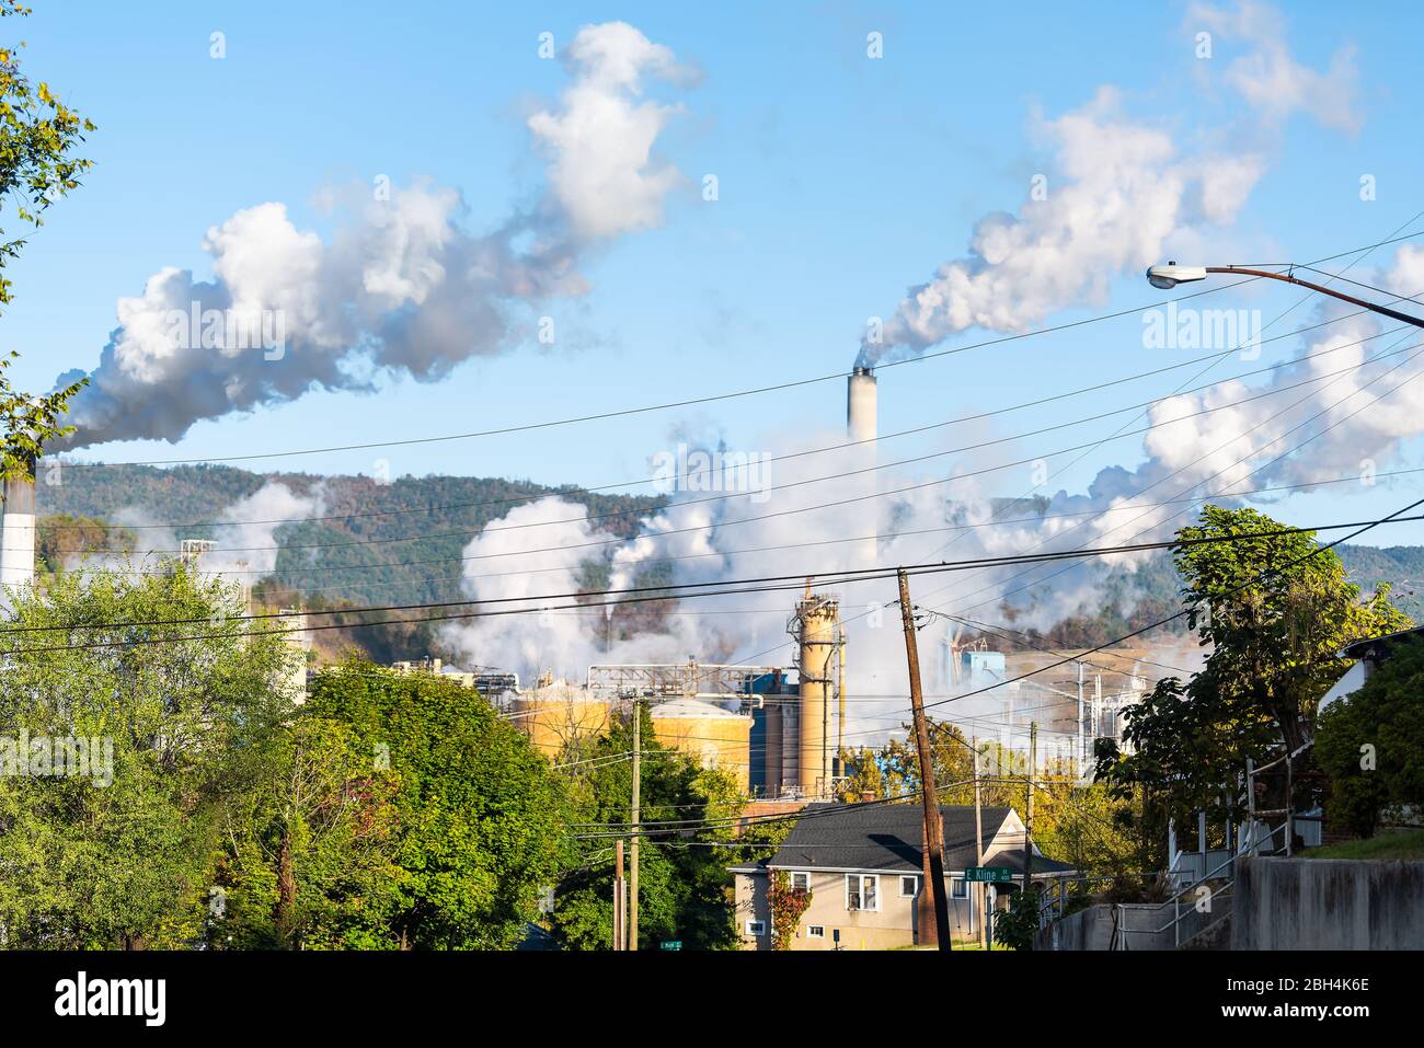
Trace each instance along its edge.
{"label": "distant tree-covered mountain ridge on the horizon behind the factory", "polygon": [[[41,518],[68,514],[112,523],[125,510],[138,510],[145,523],[178,524],[177,538],[221,538],[228,528],[204,524],[269,481],[285,484],[298,496],[319,488],[320,515],[328,520],[276,528],[281,547],[276,578],[265,582],[259,594],[273,601],[300,595],[308,607],[460,599],[464,597],[460,558],[470,538],[486,524],[543,496],[567,494],[588,505],[591,514],[607,514],[597,524],[614,535],[634,534],[638,517],[664,504],[664,498],[654,496],[585,494],[572,486],[547,487],[496,477],[400,477],[382,483],[365,476],[255,473],[229,466],[70,466],[61,478],[63,483],[50,484],[41,474],[36,487]],[[382,514],[383,510],[407,513]],[[1340,545],[1336,551],[1361,590],[1388,582],[1396,604],[1414,619],[1424,618],[1424,547]],[[1062,648],[1102,644],[1176,611],[1179,588],[1169,557],[1159,554],[1132,571],[1106,572],[1099,582],[1101,607],[1079,608],[1051,631],[1034,635]],[[1000,609],[1004,612],[1000,621],[1011,625],[1031,605],[1030,597],[1028,605],[1020,605],[1017,612]]]}

